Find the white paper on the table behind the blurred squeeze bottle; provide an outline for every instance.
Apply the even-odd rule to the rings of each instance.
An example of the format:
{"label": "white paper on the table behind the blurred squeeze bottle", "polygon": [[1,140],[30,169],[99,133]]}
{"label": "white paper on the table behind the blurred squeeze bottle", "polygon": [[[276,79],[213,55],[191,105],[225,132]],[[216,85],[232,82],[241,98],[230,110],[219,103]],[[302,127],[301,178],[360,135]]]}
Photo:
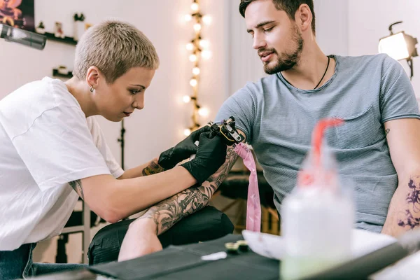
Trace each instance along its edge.
{"label": "white paper on the table behind the blurred squeeze bottle", "polygon": [[[258,255],[281,260],[284,256],[284,239],[279,235],[269,235],[262,232],[243,230],[242,235],[248,242],[249,248]],[[396,239],[388,235],[381,235],[366,230],[353,230],[352,254],[355,258],[375,251],[395,242]]]}

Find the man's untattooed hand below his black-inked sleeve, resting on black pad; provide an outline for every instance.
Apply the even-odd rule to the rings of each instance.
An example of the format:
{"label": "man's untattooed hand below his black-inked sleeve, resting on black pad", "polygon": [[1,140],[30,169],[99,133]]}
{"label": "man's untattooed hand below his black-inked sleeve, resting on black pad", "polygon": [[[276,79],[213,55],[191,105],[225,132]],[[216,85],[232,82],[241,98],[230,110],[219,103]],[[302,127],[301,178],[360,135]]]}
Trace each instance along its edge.
{"label": "man's untattooed hand below his black-inked sleeve, resting on black pad", "polygon": [[151,218],[139,218],[130,224],[121,244],[118,262],[139,258],[162,250],[157,225]]}

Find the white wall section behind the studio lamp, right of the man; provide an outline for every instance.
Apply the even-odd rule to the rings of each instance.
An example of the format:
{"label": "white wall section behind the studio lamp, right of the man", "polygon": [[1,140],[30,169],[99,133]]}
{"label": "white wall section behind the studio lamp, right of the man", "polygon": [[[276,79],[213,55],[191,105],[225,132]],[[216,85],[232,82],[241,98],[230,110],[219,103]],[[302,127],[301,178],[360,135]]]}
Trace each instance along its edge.
{"label": "white wall section behind the studio lamp, right of the man", "polygon": [[[420,40],[420,1],[419,0],[351,0],[349,1],[349,55],[372,55],[378,52],[379,38],[389,35],[388,26],[395,25],[393,31]],[[420,44],[417,45],[420,51]],[[420,95],[420,57],[414,57],[414,77],[412,85],[417,96]],[[407,62],[400,61],[409,74]]]}

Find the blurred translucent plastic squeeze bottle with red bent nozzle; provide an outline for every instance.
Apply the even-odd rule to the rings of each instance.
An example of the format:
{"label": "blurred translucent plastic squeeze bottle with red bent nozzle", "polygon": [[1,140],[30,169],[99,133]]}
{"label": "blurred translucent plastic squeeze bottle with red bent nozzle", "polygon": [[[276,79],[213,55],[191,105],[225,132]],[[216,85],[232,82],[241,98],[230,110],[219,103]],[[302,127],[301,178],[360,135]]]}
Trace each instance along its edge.
{"label": "blurred translucent plastic squeeze bottle with red bent nozzle", "polygon": [[281,279],[300,279],[351,257],[353,197],[339,185],[335,157],[323,144],[325,129],[342,123],[335,118],[319,121],[297,186],[283,200]]}

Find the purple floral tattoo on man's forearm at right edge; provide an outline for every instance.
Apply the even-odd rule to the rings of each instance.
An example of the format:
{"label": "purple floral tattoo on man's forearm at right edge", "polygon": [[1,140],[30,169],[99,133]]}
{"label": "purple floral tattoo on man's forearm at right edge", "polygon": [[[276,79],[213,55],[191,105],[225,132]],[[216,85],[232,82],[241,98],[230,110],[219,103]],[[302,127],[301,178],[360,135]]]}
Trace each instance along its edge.
{"label": "purple floral tattoo on man's forearm at right edge", "polygon": [[408,209],[405,210],[404,217],[398,219],[398,225],[400,227],[408,226],[412,230],[420,225],[420,217],[415,217],[420,213],[420,176],[412,176],[409,179],[408,188],[409,193],[405,198]]}

